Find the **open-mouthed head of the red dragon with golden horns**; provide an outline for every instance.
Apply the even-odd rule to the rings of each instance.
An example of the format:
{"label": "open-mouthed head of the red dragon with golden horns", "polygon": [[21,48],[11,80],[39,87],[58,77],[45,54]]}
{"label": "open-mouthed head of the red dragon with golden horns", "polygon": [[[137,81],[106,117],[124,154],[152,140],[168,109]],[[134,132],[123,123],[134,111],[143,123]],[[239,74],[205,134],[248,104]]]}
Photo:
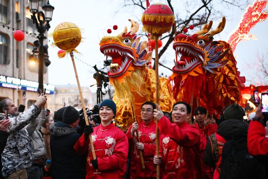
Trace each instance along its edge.
{"label": "open-mouthed head of the red dragon with golden horns", "polygon": [[202,68],[211,73],[215,73],[213,68],[223,67],[227,60],[222,60],[229,49],[225,49],[218,41],[213,41],[213,36],[220,33],[225,27],[226,19],[223,18],[214,30],[211,29],[212,21],[205,24],[203,28],[193,35],[178,34],[173,42],[173,49],[179,57],[174,60],[175,66],[172,68],[172,79],[178,75],[182,80],[188,75],[198,76],[203,74]]}

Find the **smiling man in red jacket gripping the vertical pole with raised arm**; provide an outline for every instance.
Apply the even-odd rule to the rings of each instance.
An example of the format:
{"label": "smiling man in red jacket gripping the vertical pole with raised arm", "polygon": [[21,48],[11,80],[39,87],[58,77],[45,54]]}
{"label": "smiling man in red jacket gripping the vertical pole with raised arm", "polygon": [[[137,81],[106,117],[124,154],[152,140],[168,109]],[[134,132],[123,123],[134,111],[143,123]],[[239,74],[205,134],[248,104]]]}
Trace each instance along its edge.
{"label": "smiling man in red jacket gripping the vertical pole with raised arm", "polygon": [[[191,106],[183,101],[175,103],[172,110],[173,123],[163,115],[159,105],[156,104],[156,106],[154,117],[159,120],[159,131],[180,146],[179,168],[174,171],[177,174],[170,177],[172,179],[202,179],[201,154],[205,150],[206,141],[199,129],[187,123],[190,118]],[[153,162],[160,164],[162,157],[154,156]]]}

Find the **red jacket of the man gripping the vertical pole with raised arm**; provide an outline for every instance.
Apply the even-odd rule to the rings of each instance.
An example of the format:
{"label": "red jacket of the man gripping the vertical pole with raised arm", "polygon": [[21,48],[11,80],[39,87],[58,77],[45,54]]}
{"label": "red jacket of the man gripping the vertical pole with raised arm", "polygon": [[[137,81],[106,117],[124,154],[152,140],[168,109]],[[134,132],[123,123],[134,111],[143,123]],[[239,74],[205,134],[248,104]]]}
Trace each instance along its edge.
{"label": "red jacket of the man gripping the vertical pole with raised arm", "polygon": [[178,178],[202,179],[201,160],[206,140],[199,129],[187,122],[178,126],[164,116],[159,120],[158,127],[163,135],[169,136],[181,147]]}

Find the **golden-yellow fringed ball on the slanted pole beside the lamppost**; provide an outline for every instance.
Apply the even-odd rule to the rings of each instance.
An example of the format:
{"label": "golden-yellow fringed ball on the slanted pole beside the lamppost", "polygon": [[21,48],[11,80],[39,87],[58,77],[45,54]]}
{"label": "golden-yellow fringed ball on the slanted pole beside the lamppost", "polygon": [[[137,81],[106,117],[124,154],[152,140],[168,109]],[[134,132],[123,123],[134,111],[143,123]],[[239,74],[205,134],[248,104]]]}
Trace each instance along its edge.
{"label": "golden-yellow fringed ball on the slanted pole beside the lamppost", "polygon": [[52,33],[55,45],[64,50],[60,57],[64,57],[67,52],[77,52],[76,47],[81,42],[81,31],[72,22],[62,22],[57,25]]}

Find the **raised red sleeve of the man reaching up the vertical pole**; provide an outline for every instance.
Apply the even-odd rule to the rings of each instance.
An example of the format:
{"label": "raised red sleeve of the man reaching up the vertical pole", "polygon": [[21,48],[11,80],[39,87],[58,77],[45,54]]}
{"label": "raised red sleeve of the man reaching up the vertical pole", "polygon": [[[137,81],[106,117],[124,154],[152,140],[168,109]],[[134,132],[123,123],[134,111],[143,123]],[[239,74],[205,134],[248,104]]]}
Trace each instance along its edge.
{"label": "raised red sleeve of the man reaching up the vertical pole", "polygon": [[200,139],[200,132],[194,126],[181,129],[176,124],[171,123],[165,116],[159,120],[158,128],[162,134],[169,136],[182,147],[191,147]]}

